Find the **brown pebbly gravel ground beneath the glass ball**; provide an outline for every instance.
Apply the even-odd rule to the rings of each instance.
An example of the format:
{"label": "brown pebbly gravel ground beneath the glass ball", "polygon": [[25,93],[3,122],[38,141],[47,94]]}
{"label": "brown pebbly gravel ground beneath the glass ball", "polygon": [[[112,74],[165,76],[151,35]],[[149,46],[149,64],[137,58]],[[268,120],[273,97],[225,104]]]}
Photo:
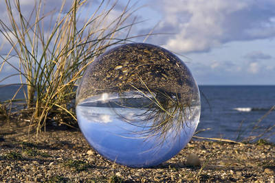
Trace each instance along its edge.
{"label": "brown pebbly gravel ground beneath the glass ball", "polygon": [[132,169],[102,158],[79,131],[49,130],[37,143],[0,133],[0,182],[274,182],[274,161],[271,144],[190,141],[157,167]]}

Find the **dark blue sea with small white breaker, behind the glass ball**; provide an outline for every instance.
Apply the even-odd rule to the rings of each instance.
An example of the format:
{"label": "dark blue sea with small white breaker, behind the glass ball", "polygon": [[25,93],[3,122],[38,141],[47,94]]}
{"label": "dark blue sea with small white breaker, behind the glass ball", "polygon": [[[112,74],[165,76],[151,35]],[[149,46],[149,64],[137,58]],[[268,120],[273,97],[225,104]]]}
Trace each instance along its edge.
{"label": "dark blue sea with small white breaker, behind the glass ball", "polygon": [[[0,86],[0,101],[19,86]],[[199,86],[201,117],[196,136],[275,143],[275,86]],[[19,92],[17,98],[22,98]],[[273,127],[273,128],[272,128]]]}

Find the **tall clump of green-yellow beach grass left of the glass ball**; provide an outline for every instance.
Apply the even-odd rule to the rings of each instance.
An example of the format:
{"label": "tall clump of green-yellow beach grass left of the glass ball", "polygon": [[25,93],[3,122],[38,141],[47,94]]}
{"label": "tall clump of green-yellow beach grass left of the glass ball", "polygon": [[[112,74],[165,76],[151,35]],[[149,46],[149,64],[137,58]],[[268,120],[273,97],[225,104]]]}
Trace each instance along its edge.
{"label": "tall clump of green-yellow beach grass left of the glass ball", "polygon": [[[129,1],[130,2],[130,1]],[[76,124],[72,101],[75,86],[87,65],[112,45],[124,43],[133,37],[118,38],[135,24],[126,20],[137,9],[126,4],[124,10],[112,21],[111,12],[117,2],[102,1],[87,20],[80,23],[80,13],[88,1],[75,0],[65,12],[65,1],[58,16],[44,12],[43,3],[36,1],[30,16],[23,14],[19,0],[5,0],[8,23],[0,20],[0,32],[10,43],[10,51],[1,56],[0,72],[4,64],[12,66],[20,76],[21,87],[30,113],[30,123],[37,123],[37,133],[45,127],[47,119],[67,125]],[[45,29],[46,19],[54,20]],[[10,58],[17,58],[18,65]],[[12,77],[13,75],[8,75]],[[5,77],[3,80],[6,80]],[[65,120],[71,116],[72,121]]]}

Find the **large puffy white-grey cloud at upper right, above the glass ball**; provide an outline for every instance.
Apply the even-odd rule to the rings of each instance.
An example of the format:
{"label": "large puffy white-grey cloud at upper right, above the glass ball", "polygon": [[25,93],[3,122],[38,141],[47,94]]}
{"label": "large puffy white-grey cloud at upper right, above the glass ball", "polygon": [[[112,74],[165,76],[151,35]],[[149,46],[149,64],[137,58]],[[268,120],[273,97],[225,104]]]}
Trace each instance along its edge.
{"label": "large puffy white-grey cloud at upper right, above the glass ball", "polygon": [[209,51],[225,42],[275,36],[272,0],[162,0],[156,4],[163,12],[158,31],[175,33],[161,44],[173,51]]}

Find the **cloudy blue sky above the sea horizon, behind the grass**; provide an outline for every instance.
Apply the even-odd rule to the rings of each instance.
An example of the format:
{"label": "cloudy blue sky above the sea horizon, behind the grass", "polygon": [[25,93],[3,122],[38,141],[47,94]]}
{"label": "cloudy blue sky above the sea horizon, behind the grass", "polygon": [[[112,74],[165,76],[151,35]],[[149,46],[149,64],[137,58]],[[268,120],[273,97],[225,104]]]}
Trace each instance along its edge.
{"label": "cloudy blue sky above the sea horizon, behind the grass", "polygon": [[[48,0],[47,8],[61,5]],[[86,17],[100,1],[90,1]],[[111,1],[113,3],[115,1]],[[127,1],[118,1],[111,17],[122,12]],[[30,1],[21,0],[24,12]],[[91,5],[92,4],[92,5]],[[133,0],[137,23],[131,34],[157,34],[145,42],[173,51],[183,60],[200,85],[275,84],[275,1],[274,0]],[[46,8],[46,9],[47,9]],[[0,5],[0,18],[5,19]],[[112,17],[113,16],[113,17]],[[0,36],[2,49],[5,40]],[[144,38],[135,39],[136,42]],[[4,42],[4,43],[3,43]],[[11,72],[5,66],[1,78]],[[10,78],[6,82],[16,82]]]}

